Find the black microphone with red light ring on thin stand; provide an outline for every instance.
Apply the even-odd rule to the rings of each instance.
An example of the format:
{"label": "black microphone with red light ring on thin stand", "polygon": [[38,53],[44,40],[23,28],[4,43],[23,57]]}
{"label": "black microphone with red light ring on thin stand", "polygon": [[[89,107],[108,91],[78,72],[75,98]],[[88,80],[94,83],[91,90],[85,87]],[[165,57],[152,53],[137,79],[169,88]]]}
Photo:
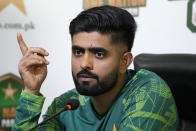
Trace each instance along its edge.
{"label": "black microphone with red light ring on thin stand", "polygon": [[32,127],[31,129],[29,129],[29,131],[33,131],[34,129],[36,129],[37,127],[43,125],[44,123],[46,123],[47,121],[49,121],[50,119],[55,118],[56,116],[58,116],[60,113],[66,111],[66,110],[75,110],[78,108],[78,106],[80,105],[79,101],[76,99],[70,99],[66,106],[59,112],[55,113],[54,115],[48,117],[46,120],[42,121],[41,123],[37,124],[36,126]]}

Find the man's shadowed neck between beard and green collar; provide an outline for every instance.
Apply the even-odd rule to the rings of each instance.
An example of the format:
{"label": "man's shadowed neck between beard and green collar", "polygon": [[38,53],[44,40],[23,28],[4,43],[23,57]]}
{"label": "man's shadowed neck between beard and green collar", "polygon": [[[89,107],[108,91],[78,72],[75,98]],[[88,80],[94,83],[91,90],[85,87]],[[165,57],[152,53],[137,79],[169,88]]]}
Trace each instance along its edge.
{"label": "man's shadowed neck between beard and green collar", "polygon": [[120,79],[117,81],[116,86],[112,90],[104,94],[101,94],[99,96],[91,97],[91,102],[93,104],[93,107],[99,115],[105,114],[110,109],[116,97],[121,92],[126,82],[126,74],[119,77]]}

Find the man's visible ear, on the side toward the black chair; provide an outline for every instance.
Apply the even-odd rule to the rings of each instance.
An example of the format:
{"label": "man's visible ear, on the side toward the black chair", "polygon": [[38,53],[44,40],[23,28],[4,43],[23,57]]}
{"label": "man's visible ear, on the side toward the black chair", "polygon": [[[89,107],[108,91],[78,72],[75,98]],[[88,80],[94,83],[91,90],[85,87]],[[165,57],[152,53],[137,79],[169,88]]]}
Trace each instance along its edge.
{"label": "man's visible ear, on the side toward the black chair", "polygon": [[120,61],[120,73],[125,73],[129,65],[132,63],[133,56],[131,52],[125,52]]}

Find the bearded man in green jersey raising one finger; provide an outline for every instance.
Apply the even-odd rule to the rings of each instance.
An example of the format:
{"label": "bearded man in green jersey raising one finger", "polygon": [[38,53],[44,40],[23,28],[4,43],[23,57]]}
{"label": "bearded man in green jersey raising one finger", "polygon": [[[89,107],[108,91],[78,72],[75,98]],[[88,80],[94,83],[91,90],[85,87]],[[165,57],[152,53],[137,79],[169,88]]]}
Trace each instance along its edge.
{"label": "bearded man in green jersey raising one finger", "polygon": [[[37,130],[178,130],[178,114],[167,84],[150,71],[128,70],[135,31],[131,14],[113,6],[88,9],[70,23],[76,89],[57,97],[44,119],[64,108],[69,99],[78,99],[80,106]],[[44,103],[39,91],[49,64],[44,56],[49,54],[42,48],[28,48],[20,34],[18,43],[25,88],[13,130],[27,130],[37,124]]]}

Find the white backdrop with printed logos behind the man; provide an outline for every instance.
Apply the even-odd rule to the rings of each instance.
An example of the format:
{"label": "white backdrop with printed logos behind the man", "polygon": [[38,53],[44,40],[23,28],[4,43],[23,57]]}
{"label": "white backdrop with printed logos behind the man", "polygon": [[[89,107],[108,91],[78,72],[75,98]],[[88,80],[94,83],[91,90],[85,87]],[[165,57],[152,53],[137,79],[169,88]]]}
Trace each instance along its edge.
{"label": "white backdrop with printed logos behind the man", "polygon": [[45,112],[54,97],[74,88],[70,21],[82,10],[103,4],[125,8],[134,15],[138,24],[134,56],[196,53],[196,0],[0,0],[0,76],[19,76],[22,54],[17,32],[29,47],[45,48],[50,53],[48,75],[41,88]]}

